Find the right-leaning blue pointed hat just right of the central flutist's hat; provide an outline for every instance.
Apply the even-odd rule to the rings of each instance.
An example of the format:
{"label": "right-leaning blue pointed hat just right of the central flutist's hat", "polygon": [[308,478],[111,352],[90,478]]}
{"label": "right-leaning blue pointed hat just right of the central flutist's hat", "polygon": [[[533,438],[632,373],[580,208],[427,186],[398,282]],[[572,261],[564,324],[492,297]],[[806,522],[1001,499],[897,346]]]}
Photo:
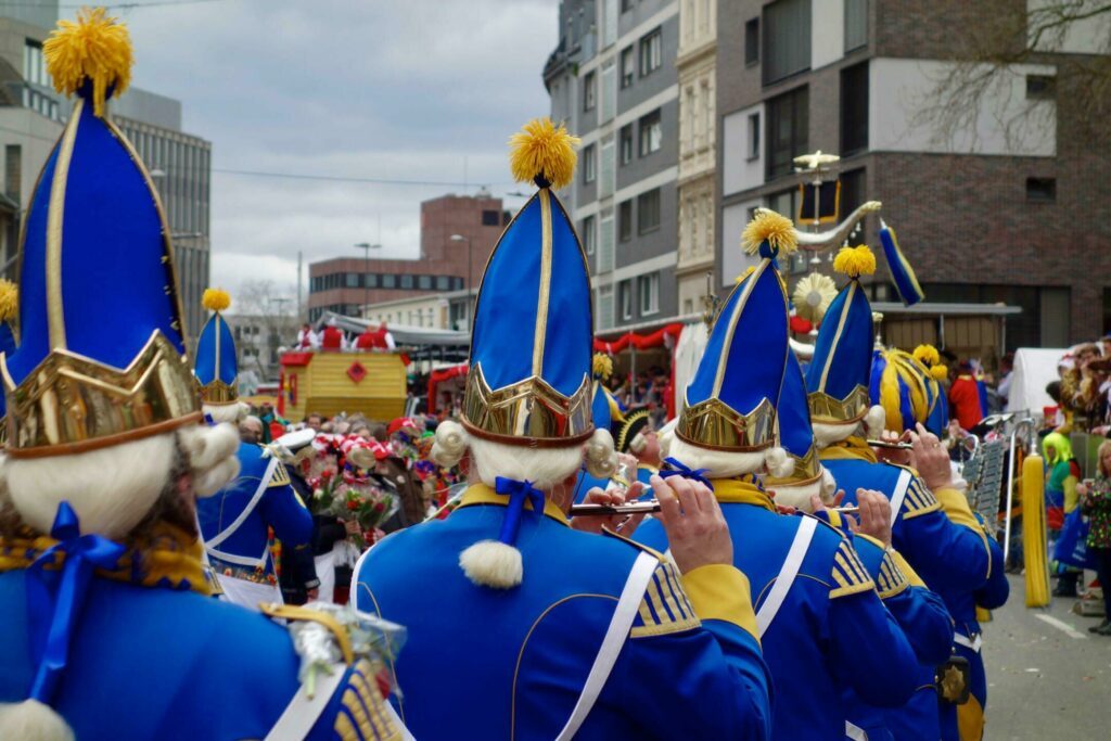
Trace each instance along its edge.
{"label": "right-leaning blue pointed hat just right of the central flutist's hat", "polygon": [[710,450],[753,452],[775,443],[788,310],[773,262],[794,250],[794,227],[763,211],[745,228],[744,243],[763,259],[722,304],[675,425],[680,440]]}

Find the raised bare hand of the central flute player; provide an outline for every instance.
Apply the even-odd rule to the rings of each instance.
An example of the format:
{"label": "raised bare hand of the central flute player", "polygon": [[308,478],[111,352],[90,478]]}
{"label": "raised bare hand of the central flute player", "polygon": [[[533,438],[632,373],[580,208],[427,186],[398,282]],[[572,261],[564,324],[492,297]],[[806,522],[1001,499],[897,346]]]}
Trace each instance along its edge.
{"label": "raised bare hand of the central flute player", "polygon": [[652,477],[660,500],[659,519],[668,532],[671,557],[682,573],[699,567],[733,563],[733,540],[718,500],[703,483],[673,475]]}

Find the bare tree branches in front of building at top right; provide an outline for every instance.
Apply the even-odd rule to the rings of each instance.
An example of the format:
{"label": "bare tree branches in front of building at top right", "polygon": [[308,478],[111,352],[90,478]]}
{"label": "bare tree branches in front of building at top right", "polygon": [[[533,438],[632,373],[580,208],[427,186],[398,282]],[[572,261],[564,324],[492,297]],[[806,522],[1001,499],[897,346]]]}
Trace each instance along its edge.
{"label": "bare tree branches in front of building at top right", "polygon": [[[977,22],[953,23],[947,59],[952,63],[917,101],[913,126],[930,130],[935,143],[971,138],[974,148],[973,132],[989,116],[1008,148],[1022,151],[1023,142],[1052,130],[1067,114],[1070,132],[1085,144],[1109,140],[1111,2],[978,0],[972,7]],[[1088,53],[1061,53],[1078,47]],[[1031,64],[1052,66],[1055,73],[1038,77],[1029,89],[1025,66]],[[1017,104],[1017,90],[1027,103]],[[1052,99],[1057,106],[1048,102]]]}

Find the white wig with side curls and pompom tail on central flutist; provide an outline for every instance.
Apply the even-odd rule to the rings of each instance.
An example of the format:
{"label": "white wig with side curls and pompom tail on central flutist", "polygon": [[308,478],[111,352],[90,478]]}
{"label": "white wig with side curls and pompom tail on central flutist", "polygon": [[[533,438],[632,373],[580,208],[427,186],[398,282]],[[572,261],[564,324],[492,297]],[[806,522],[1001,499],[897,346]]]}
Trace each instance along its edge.
{"label": "white wig with side curls and pompom tail on central flutist", "polygon": [[[451,468],[471,453],[471,480],[494,487],[503,477],[531,481],[544,492],[574,475],[585,460],[587,470],[599,479],[617,471],[618,458],[613,438],[607,430],[594,430],[585,448],[571,444],[560,448],[524,448],[483,440],[468,434],[458,422],[441,422],[436,428],[432,460]],[[512,589],[524,579],[521,552],[498,540],[482,540],[459,554],[459,565],[476,584],[492,589]]]}

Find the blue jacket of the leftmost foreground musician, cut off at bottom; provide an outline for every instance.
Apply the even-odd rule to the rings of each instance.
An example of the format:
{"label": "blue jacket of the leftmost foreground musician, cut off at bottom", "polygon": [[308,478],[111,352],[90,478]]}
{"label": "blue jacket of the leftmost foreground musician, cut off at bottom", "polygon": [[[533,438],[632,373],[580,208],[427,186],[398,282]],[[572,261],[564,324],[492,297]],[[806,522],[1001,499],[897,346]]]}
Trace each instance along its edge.
{"label": "blue jacket of the leftmost foreground musician, cut off at bottom", "polygon": [[[0,702],[28,697],[44,640],[28,622],[27,573],[0,573]],[[299,663],[287,629],[261,614],[94,577],[51,704],[81,741],[261,739],[297,692]],[[309,739],[386,738],[364,712],[378,691],[368,667],[348,670]]]}

